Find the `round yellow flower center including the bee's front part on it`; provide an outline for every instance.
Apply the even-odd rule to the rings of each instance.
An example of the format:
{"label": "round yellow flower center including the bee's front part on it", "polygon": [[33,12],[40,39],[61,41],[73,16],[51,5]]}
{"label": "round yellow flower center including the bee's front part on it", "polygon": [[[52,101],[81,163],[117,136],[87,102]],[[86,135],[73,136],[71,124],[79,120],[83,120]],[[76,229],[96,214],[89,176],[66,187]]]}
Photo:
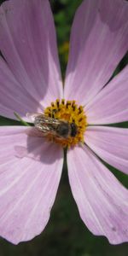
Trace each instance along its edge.
{"label": "round yellow flower center including the bee's front part on it", "polygon": [[87,126],[84,108],[75,101],[61,101],[57,99],[44,110],[44,115],[49,121],[49,140],[60,143],[62,147],[71,147],[84,143],[84,131]]}

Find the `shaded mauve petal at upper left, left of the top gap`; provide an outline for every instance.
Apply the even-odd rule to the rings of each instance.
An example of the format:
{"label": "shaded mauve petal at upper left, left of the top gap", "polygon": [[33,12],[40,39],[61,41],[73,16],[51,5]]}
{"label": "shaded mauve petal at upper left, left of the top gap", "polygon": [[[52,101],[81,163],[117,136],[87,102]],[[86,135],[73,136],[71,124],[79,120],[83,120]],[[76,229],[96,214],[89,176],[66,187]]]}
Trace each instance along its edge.
{"label": "shaded mauve petal at upper left, left of the top gap", "polygon": [[[19,84],[13,86],[11,95],[20,87],[25,95],[27,91],[46,107],[62,94],[55,26],[49,1],[10,0],[1,5],[0,17],[0,50]],[[0,77],[3,80],[2,71]],[[8,79],[12,79],[12,75]],[[12,102],[13,108],[18,108],[17,103]],[[2,110],[8,112],[6,102],[2,103]]]}

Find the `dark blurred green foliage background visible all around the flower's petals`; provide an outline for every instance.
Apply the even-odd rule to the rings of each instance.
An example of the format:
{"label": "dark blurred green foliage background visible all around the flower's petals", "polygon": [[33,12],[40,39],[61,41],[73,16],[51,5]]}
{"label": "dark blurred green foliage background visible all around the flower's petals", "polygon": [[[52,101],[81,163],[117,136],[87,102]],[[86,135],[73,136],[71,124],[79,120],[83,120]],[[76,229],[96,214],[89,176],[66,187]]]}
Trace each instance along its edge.
{"label": "dark blurred green foliage background visible all around the flower's petals", "polygon": [[[0,3],[3,2],[0,0]],[[64,77],[71,24],[75,10],[82,0],[51,0],[50,2],[55,17],[61,70]],[[127,60],[128,57],[125,55],[113,75],[125,67]],[[20,125],[20,122],[1,117],[0,124]],[[116,124],[116,126],[125,128],[128,127],[128,123]],[[108,166],[108,164],[104,164]],[[125,174],[112,166],[108,166],[108,168],[128,187],[128,177]],[[32,241],[21,243],[18,246],[3,239],[0,241],[0,256],[127,256],[127,252],[128,244],[112,246],[106,238],[93,236],[84,226],[79,218],[79,212],[69,187],[66,163],[63,167],[61,184],[51,218],[44,232]]]}

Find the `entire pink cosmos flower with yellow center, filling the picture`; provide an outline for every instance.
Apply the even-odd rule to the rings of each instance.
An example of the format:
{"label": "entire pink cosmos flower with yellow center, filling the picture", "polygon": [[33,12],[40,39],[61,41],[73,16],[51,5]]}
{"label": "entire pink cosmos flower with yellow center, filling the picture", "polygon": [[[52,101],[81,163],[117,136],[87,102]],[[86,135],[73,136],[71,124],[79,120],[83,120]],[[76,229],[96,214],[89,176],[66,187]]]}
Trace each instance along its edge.
{"label": "entire pink cosmos flower with yellow center, filling the picture", "polygon": [[127,50],[127,17],[125,0],[83,1],[63,89],[49,1],[1,5],[0,114],[16,119],[16,112],[30,122],[33,112],[35,124],[0,127],[5,239],[17,244],[44,230],[67,147],[69,183],[84,224],[113,244],[128,241],[128,191],[102,163],[128,173],[128,129],[108,126],[128,117],[128,67],[110,79]]}

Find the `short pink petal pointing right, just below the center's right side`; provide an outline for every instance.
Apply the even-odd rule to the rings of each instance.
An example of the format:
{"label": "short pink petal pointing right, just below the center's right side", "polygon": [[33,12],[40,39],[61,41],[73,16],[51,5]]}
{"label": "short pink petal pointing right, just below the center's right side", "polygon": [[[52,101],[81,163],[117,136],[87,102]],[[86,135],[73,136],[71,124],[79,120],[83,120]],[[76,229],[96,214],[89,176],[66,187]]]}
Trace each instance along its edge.
{"label": "short pink petal pointing right, just below the center's right side", "polygon": [[84,141],[102,160],[128,174],[128,129],[89,126]]}

